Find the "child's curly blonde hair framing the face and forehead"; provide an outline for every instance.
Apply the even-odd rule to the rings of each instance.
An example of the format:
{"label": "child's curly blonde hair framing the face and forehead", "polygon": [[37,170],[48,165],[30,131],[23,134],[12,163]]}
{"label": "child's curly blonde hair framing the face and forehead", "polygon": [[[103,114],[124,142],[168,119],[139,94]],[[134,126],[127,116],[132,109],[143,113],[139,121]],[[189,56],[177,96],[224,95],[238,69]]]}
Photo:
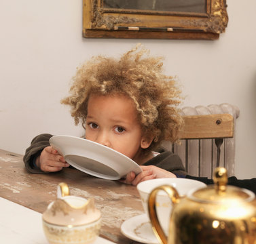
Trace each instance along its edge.
{"label": "child's curly blonde hair framing the face and forehead", "polygon": [[181,90],[173,77],[162,73],[162,59],[149,56],[149,50],[141,45],[120,59],[93,57],[77,68],[70,96],[61,103],[71,106],[75,125],[84,125],[91,94],[122,94],[134,101],[144,135],[153,138],[148,151],[158,148],[163,140],[176,142],[183,125],[177,108]]}

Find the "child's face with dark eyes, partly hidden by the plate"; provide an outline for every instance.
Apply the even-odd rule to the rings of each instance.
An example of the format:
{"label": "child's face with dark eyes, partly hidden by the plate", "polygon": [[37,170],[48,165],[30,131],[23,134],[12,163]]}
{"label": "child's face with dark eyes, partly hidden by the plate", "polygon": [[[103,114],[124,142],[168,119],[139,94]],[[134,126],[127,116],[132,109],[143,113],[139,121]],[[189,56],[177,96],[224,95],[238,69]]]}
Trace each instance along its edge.
{"label": "child's face with dark eyes, partly hidden by the plate", "polygon": [[126,96],[90,96],[86,139],[117,150],[134,161],[138,161],[141,148],[151,144],[143,136],[134,102]]}

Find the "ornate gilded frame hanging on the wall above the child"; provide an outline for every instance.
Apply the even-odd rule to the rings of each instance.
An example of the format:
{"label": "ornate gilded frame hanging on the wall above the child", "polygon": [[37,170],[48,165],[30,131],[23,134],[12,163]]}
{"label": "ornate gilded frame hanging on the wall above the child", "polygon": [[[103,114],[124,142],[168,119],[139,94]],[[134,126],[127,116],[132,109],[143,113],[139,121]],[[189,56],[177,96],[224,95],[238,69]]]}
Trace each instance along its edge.
{"label": "ornate gilded frame hanging on the wall above the child", "polygon": [[104,0],[83,3],[85,38],[214,40],[228,22],[225,0],[205,0],[205,13],[110,8]]}

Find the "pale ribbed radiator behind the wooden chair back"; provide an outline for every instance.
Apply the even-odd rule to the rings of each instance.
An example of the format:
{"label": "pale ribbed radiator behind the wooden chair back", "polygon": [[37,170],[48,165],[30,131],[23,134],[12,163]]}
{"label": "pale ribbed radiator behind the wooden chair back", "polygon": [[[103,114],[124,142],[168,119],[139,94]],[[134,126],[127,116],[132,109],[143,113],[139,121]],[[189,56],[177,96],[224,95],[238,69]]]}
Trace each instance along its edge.
{"label": "pale ribbed radiator behind the wooden chair back", "polygon": [[[236,119],[240,110],[232,104],[211,104],[208,106],[186,106],[182,108],[183,115],[213,115],[229,113],[234,117],[234,137],[225,138],[221,145],[219,165],[227,169],[228,176],[234,176]],[[181,140],[181,144],[163,143],[164,148],[172,150],[181,157],[187,174],[213,178],[217,164],[217,146],[213,139]]]}

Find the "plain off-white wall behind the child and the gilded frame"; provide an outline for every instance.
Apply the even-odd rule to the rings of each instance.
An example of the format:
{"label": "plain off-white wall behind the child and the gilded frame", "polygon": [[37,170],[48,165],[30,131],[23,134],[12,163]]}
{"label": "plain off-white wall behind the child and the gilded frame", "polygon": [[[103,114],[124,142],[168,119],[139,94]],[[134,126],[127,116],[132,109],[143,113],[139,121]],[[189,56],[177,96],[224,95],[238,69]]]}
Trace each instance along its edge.
{"label": "plain off-white wall behind the child and the gilded frame", "polygon": [[119,55],[136,43],[164,56],[178,75],[183,106],[228,102],[236,125],[238,178],[256,176],[256,1],[227,0],[229,23],[216,41],[84,39],[81,0],[0,1],[0,148],[24,154],[37,134],[81,135],[59,103],[75,68],[97,54]]}

